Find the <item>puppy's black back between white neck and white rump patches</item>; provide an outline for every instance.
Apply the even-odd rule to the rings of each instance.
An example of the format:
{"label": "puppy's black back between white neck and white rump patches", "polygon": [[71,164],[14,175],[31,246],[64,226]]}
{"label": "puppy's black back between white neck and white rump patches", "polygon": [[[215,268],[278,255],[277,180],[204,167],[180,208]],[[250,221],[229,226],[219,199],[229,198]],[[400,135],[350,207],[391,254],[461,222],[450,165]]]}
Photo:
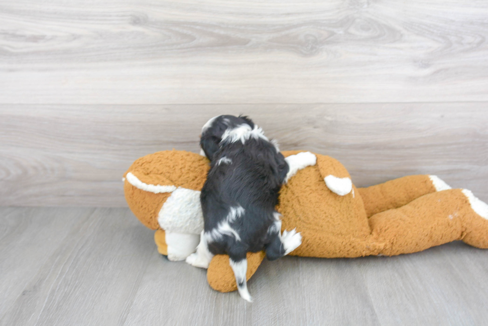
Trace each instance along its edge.
{"label": "puppy's black back between white neck and white rump patches", "polygon": [[[205,230],[232,219],[230,224],[241,241],[258,246],[258,238],[274,220],[286,168],[284,157],[267,140],[249,139],[244,144],[224,146],[216,153],[202,189]],[[240,207],[242,216],[230,216],[232,208]]]}

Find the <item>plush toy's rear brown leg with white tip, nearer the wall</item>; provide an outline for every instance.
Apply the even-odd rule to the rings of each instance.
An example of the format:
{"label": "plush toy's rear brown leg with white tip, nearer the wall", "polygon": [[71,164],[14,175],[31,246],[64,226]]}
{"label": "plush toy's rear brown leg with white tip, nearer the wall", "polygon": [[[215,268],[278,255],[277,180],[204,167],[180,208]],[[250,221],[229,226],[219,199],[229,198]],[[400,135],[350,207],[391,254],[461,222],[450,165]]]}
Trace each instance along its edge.
{"label": "plush toy's rear brown leg with white tip, nearer the wall", "polygon": [[359,188],[367,217],[406,205],[426,194],[451,189],[434,175],[413,175]]}

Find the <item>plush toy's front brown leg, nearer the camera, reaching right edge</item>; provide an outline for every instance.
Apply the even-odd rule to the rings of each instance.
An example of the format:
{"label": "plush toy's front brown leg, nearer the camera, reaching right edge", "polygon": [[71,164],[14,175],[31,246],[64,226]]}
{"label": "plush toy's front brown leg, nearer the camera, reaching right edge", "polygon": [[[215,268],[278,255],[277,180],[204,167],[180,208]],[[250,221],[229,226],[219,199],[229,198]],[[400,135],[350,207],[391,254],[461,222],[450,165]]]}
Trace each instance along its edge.
{"label": "plush toy's front brown leg, nearer the camera, reaching right edge", "polygon": [[424,195],[369,218],[377,254],[398,255],[463,240],[488,248],[488,206],[462,189]]}

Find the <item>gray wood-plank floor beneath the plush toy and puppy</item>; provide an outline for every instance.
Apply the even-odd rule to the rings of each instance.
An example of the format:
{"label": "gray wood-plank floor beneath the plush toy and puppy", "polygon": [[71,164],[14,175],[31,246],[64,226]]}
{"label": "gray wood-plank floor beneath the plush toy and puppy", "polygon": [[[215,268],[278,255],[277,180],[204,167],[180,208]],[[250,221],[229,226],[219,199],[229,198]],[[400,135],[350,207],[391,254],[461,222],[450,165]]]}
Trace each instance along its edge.
{"label": "gray wood-plank floor beneath the plush toy and puppy", "polygon": [[488,325],[488,251],[264,261],[247,304],[128,209],[1,208],[0,325]]}

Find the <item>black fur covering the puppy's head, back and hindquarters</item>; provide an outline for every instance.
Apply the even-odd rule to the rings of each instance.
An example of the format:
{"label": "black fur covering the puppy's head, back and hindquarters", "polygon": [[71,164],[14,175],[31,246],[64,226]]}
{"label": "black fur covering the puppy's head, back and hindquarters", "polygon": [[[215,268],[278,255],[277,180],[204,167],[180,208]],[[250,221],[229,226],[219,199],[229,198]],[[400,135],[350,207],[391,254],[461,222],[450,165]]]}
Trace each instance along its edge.
{"label": "black fur covering the puppy's head, back and hindquarters", "polygon": [[[205,232],[225,220],[232,207],[241,206],[244,214],[230,223],[241,240],[224,234],[209,242],[213,254],[228,254],[234,261],[245,258],[247,252],[266,249],[268,259],[284,254],[280,241],[281,230],[270,226],[276,221],[274,214],[278,193],[288,173],[288,164],[273,144],[265,139],[249,138],[222,143],[227,128],[243,123],[251,128],[254,123],[245,116],[222,115],[202,134],[201,146],[211,159],[211,168],[201,192]],[[226,157],[232,163],[220,163]]]}

